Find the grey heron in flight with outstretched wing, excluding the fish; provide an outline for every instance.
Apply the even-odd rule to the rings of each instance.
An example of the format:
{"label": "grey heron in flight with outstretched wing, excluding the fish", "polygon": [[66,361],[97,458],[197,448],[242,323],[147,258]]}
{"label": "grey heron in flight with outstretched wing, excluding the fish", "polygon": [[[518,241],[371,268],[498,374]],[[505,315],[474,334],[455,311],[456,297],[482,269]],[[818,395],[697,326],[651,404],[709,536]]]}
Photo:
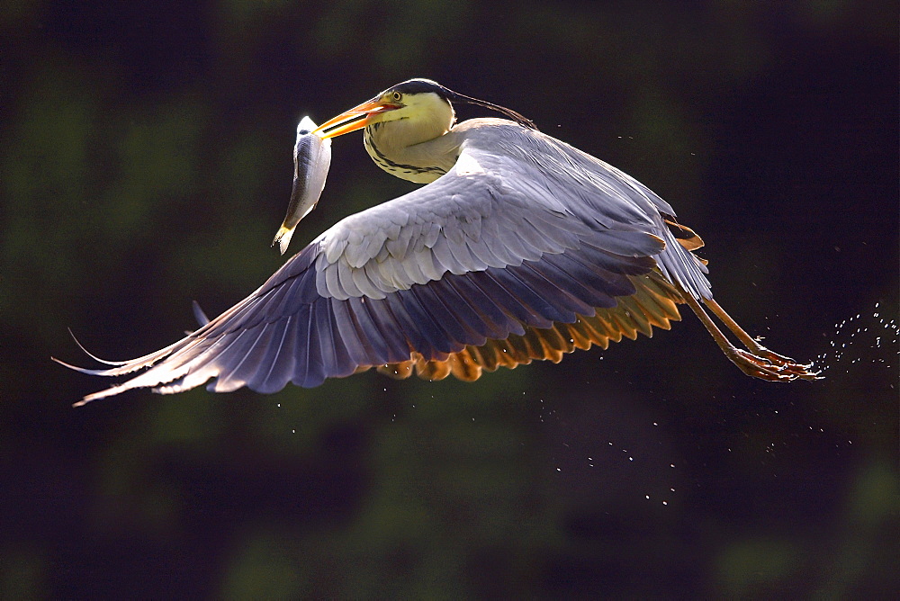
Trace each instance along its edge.
{"label": "grey heron in flight with outstretched wing, excluding the fish", "polygon": [[[455,123],[454,103],[505,119]],[[703,245],[644,184],[537,130],[518,112],[428,79],[394,85],[322,124],[364,130],[392,175],[428,184],[338,221],[256,292],[156,353],[103,362],[125,390],[282,390],[371,368],[464,381],[623,336],[653,335],[687,304],[744,373],[815,379],[716,301]],[[704,309],[706,307],[706,309]],[[732,344],[717,318],[744,346]]]}

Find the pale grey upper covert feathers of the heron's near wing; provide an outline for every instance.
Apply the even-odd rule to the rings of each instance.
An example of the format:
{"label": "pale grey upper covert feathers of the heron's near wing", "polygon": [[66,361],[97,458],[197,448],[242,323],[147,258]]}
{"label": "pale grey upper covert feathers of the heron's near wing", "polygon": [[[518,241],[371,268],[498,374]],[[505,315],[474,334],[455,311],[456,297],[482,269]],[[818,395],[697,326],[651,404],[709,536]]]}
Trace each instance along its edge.
{"label": "pale grey upper covert feathers of the heron's near wing", "polygon": [[[356,290],[383,298],[448,272],[519,265],[585,242],[621,256],[653,256],[665,246],[666,229],[652,207],[641,212],[644,207],[618,199],[626,209],[608,211],[600,222],[597,211],[582,206],[591,191],[598,194],[596,187],[572,190],[562,181],[536,182],[539,172],[523,160],[477,147],[466,148],[465,155],[457,164],[465,164],[463,173],[456,169],[425,188],[351,215],[323,234],[320,294],[356,296],[340,274],[360,267],[368,281],[361,281],[363,274],[353,277]],[[473,172],[474,164],[480,172]]]}

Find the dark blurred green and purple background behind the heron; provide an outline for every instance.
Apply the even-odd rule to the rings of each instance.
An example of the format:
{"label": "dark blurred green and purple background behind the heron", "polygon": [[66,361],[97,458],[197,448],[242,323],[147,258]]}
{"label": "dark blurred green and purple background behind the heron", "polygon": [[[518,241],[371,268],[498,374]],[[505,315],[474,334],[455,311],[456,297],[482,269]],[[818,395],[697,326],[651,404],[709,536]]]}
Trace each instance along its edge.
{"label": "dark blurred green and purple background behind the heron", "polygon": [[[891,596],[896,4],[4,4],[0,597]],[[297,121],[411,76],[650,185],[827,379],[752,380],[688,313],[472,384],[70,407],[105,382],[50,363],[91,363],[67,327],[130,358],[254,290]],[[337,139],[293,249],[411,186]]]}

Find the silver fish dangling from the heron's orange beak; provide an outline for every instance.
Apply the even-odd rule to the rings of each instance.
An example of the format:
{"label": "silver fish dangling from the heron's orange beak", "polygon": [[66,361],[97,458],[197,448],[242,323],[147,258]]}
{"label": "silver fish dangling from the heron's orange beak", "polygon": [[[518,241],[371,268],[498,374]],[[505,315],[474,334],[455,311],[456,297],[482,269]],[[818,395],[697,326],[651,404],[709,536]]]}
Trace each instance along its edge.
{"label": "silver fish dangling from the heron's orange beak", "polygon": [[272,240],[272,246],[277,243],[282,255],[291,244],[293,229],[316,208],[325,188],[325,178],[329,175],[331,140],[321,139],[312,133],[317,127],[309,117],[303,117],[297,126],[297,141],[293,146],[291,202],[287,205],[282,227]]}

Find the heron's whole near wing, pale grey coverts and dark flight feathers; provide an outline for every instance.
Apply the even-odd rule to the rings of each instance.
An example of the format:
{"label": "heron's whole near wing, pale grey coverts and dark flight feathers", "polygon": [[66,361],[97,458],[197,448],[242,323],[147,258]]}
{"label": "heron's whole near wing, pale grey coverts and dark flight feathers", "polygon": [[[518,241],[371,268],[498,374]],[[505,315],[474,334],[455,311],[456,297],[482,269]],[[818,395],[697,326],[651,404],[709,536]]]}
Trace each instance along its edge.
{"label": "heron's whole near wing, pale grey coverts and dark flight feathers", "polygon": [[[702,265],[669,234],[655,195],[574,148],[527,135],[538,148],[528,155],[467,142],[455,170],[338,222],[190,336],[110,369],[82,370],[146,370],[84,402],[211,379],[210,390],[273,392],[410,356],[446,362],[615,307],[617,297],[635,294],[635,277],[655,269],[708,294]],[[577,167],[568,180],[566,165]]]}

